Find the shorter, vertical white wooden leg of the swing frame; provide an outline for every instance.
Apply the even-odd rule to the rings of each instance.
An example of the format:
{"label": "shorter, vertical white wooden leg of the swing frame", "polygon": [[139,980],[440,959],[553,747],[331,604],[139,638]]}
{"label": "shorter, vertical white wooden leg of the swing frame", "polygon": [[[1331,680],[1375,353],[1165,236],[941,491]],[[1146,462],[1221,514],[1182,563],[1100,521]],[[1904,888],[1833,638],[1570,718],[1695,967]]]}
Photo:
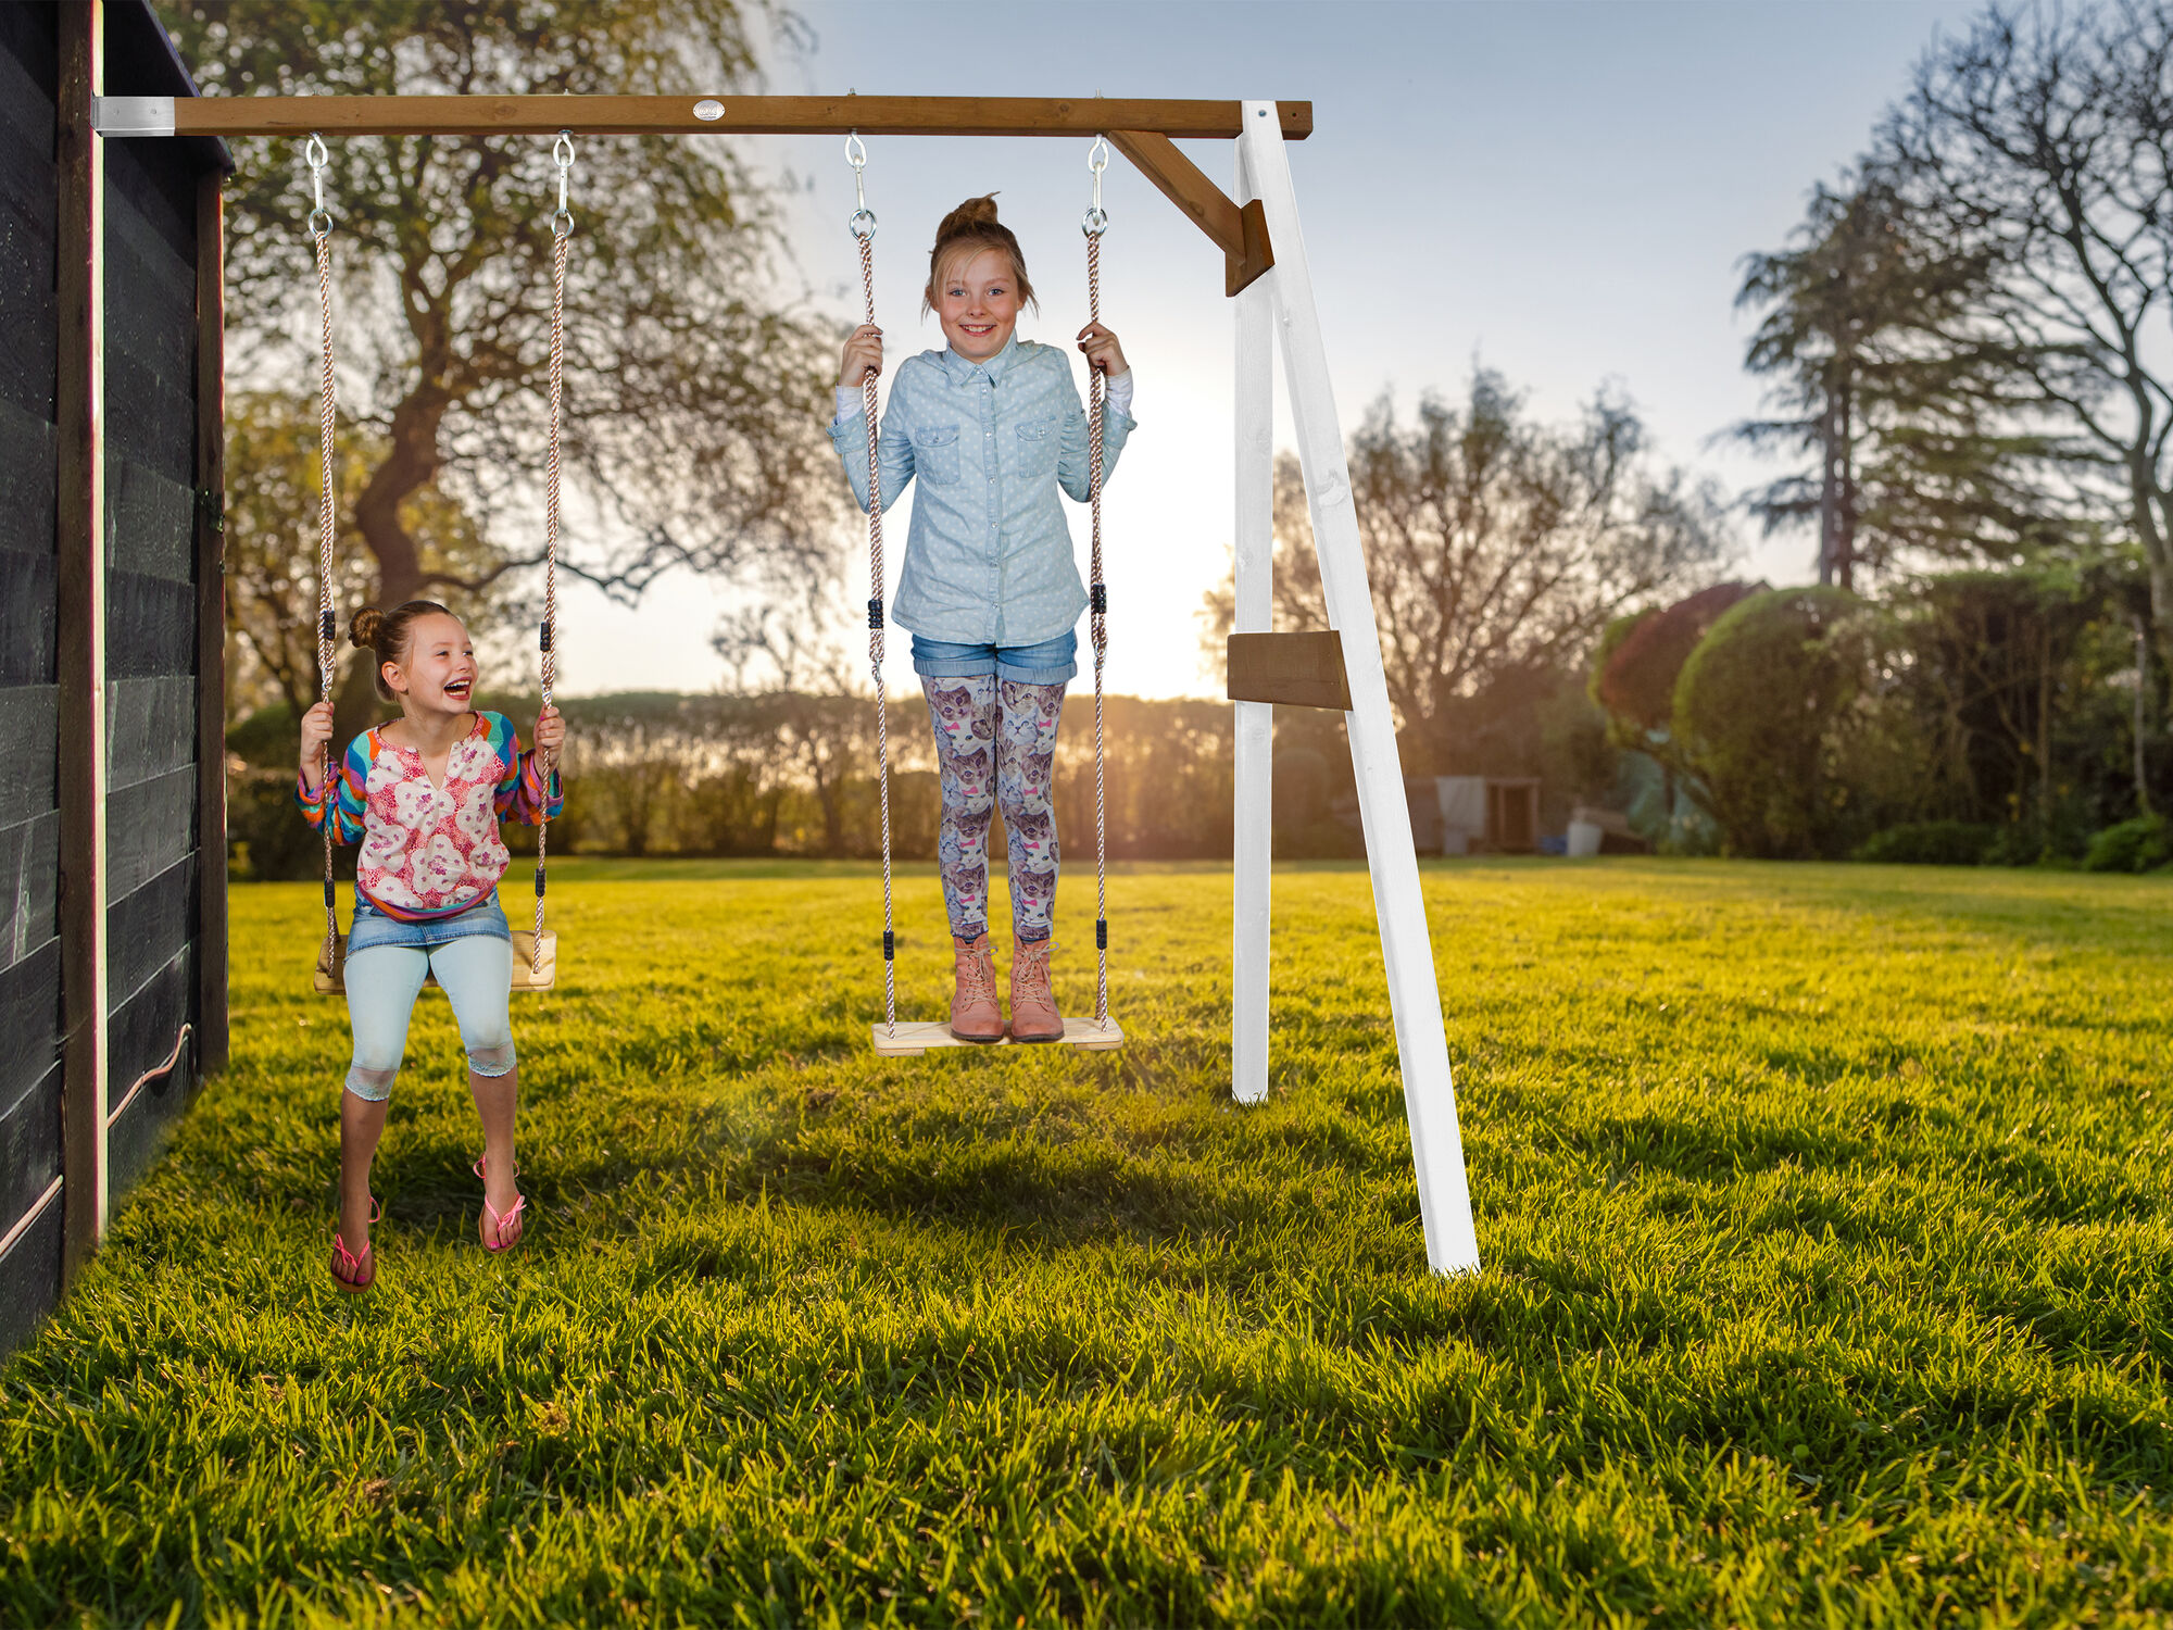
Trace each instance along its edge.
{"label": "shorter, vertical white wooden leg of the swing frame", "polygon": [[[1252,198],[1245,152],[1236,200]],[[1267,278],[1236,300],[1236,632],[1273,626],[1276,339]],[[1232,811],[1230,1095],[1267,1098],[1267,956],[1273,865],[1276,709],[1236,704],[1236,806]]]}

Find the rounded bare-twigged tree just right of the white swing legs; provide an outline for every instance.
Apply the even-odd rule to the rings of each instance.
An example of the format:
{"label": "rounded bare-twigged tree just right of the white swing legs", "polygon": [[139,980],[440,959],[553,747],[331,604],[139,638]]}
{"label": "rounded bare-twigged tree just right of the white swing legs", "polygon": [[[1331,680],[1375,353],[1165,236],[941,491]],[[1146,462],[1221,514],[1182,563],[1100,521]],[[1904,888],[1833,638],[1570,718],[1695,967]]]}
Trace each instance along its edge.
{"label": "rounded bare-twigged tree just right of the white swing legs", "polygon": [[[1452,767],[1473,700],[1580,669],[1610,617],[1699,585],[1728,554],[1714,496],[1651,472],[1643,439],[1610,396],[1573,426],[1534,424],[1486,369],[1458,409],[1425,396],[1406,428],[1382,396],[1352,435],[1352,498],[1410,774]],[[1276,459],[1273,515],[1276,624],[1326,628],[1291,454]],[[1226,632],[1230,617],[1226,589],[1208,619]]]}

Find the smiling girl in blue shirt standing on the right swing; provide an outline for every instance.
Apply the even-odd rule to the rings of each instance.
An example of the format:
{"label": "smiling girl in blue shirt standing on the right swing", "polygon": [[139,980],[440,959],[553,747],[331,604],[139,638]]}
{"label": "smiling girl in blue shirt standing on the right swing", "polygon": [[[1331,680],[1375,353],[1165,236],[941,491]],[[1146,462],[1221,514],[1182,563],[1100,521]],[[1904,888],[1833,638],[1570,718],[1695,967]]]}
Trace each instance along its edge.
{"label": "smiling girl in blue shirt standing on the right swing", "polygon": [[[993,806],[1004,811],[1010,854],[1010,1039],[1065,1035],[1050,991],[1050,772],[1065,682],[1078,674],[1073,626],[1086,589],[1056,491],[1086,502],[1089,450],[1065,354],[1013,333],[1028,304],[1034,285],[1019,239],[995,217],[995,198],[965,200],[937,228],[921,296],[921,311],[937,313],[950,346],[900,363],[878,439],[884,506],[919,476],[893,617],[913,635],[913,672],[934,722],[943,782],[937,854],[956,958],[950,1032],[960,1041],[1002,1041],[1006,1028],[989,950]],[[1134,428],[1132,374],[1102,324],[1086,324],[1078,346],[1108,378],[1106,476]],[[861,509],[861,383],[880,372],[882,330],[863,324],[845,341],[830,424]]]}

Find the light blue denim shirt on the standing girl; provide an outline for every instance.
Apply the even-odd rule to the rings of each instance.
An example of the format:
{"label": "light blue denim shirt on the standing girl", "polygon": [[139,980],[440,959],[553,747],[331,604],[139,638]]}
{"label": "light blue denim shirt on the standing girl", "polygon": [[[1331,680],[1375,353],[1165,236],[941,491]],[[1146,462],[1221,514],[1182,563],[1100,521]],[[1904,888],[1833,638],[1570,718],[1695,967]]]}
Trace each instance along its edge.
{"label": "light blue denim shirt on the standing girl", "polygon": [[[1104,480],[1132,428],[1104,409]],[[832,424],[830,441],[867,509],[865,415]],[[960,645],[1037,645],[1080,619],[1086,589],[1056,489],[1089,500],[1086,409],[1065,352],[1013,335],[987,363],[952,350],[908,356],[876,452],[884,509],[921,480],[891,609],[902,628]]]}

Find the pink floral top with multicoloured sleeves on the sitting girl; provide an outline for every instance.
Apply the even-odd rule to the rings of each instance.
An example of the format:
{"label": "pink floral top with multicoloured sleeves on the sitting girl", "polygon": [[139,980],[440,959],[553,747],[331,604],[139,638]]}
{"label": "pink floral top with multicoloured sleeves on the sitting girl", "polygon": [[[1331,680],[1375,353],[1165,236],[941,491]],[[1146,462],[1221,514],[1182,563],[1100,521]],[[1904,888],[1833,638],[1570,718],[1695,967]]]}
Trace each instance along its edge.
{"label": "pink floral top with multicoloured sleeves on the sitting girl", "polygon": [[354,885],[369,904],[422,921],[485,900],[513,858],[498,824],[556,817],[565,793],[558,772],[543,785],[535,752],[522,752],[504,713],[476,713],[476,726],[445,756],[443,787],[419,752],[387,741],[376,726],[348,743],[326,787],[311,793],[296,778],[296,802],[313,830],[322,832],[330,813],[337,843],[361,841]]}

